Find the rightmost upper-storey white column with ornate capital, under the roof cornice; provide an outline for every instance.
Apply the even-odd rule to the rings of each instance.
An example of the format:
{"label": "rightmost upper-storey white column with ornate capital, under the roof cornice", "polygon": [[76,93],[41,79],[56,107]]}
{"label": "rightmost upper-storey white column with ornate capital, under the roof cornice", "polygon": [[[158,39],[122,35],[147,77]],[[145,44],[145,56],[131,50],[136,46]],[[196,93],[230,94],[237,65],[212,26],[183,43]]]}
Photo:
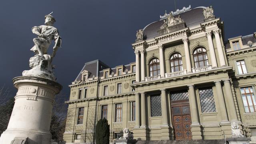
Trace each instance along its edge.
{"label": "rightmost upper-storey white column with ornate capital, under the roof cornice", "polygon": [[226,61],[224,58],[224,54],[223,54],[223,50],[222,50],[222,45],[221,45],[221,41],[220,41],[220,30],[219,29],[215,29],[213,30],[214,36],[215,36],[215,40],[216,40],[216,44],[217,44],[217,50],[218,50],[218,54],[219,54],[219,60],[220,60],[220,66],[226,66]]}

